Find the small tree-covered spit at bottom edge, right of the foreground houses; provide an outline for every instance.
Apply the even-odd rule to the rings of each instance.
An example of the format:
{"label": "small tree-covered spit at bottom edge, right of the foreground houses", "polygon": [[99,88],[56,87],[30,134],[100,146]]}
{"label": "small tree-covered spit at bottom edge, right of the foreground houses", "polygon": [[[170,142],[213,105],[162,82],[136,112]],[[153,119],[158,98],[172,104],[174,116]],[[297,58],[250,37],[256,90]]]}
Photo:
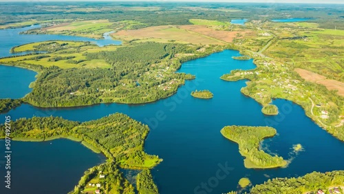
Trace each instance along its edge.
{"label": "small tree-covered spit at bottom edge, right of the foreground houses", "polygon": [[142,170],[136,177],[138,194],[158,194],[158,187],[153,182],[151,171]]}

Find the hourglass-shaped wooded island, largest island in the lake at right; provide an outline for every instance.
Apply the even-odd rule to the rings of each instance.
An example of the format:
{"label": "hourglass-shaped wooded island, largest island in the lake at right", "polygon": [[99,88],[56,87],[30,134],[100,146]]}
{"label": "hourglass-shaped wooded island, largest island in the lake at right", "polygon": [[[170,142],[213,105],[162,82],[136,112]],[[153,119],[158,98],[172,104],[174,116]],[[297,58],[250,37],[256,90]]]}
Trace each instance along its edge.
{"label": "hourglass-shaped wooded island, largest island in the lake at right", "polygon": [[226,126],[221,130],[222,136],[239,144],[239,153],[245,157],[244,165],[248,169],[271,169],[288,164],[277,155],[272,156],[259,150],[259,143],[264,138],[275,136],[272,127]]}

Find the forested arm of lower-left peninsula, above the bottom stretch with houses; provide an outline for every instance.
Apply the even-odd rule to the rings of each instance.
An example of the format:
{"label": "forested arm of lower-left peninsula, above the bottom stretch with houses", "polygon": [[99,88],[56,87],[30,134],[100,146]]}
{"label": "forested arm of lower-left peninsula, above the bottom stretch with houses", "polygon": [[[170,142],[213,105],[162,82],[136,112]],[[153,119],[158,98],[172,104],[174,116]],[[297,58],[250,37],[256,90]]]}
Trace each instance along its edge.
{"label": "forested arm of lower-left peninsula, above the bottom stretch with houses", "polygon": [[[120,166],[131,169],[147,169],[160,162],[158,156],[143,151],[149,127],[124,114],[74,122],[58,117],[21,118],[11,124],[14,140],[50,140],[52,138],[75,138],[90,147],[102,151],[107,158],[114,158]],[[0,125],[0,137],[4,137],[4,125]],[[149,165],[145,164],[149,161]]]}

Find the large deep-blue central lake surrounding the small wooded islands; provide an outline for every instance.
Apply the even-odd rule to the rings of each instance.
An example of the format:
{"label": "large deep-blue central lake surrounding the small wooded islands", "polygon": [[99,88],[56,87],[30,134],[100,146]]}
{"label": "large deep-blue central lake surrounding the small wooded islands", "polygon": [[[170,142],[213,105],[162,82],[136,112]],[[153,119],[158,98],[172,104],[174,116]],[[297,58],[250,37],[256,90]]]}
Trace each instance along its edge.
{"label": "large deep-blue central lake surrounding the small wooded islands", "polygon": [[[12,119],[53,115],[69,120],[86,121],[116,112],[127,114],[149,125],[151,132],[146,140],[145,151],[164,159],[152,170],[160,193],[225,193],[237,190],[237,182],[241,177],[249,177],[253,184],[258,184],[268,180],[268,177],[288,177],[312,171],[344,169],[343,142],[315,125],[305,116],[299,105],[287,100],[274,100],[273,103],[279,107],[279,115],[264,116],[261,114],[259,103],[241,94],[240,89],[246,85],[246,80],[226,82],[219,79],[232,69],[255,68],[252,60],[237,61],[231,58],[238,54],[235,50],[225,50],[183,63],[178,72],[194,74],[196,79],[186,81],[186,84],[178,89],[177,94],[155,103],[114,103],[68,109],[41,109],[21,105],[8,114],[1,115],[0,122],[3,122],[5,115],[10,115]],[[214,98],[193,98],[190,93],[195,89],[209,89],[213,92]],[[244,168],[244,159],[239,154],[237,144],[226,140],[219,132],[226,125],[275,127],[278,135],[265,140],[262,148],[268,153],[277,153],[286,159],[293,158],[292,163],[286,169]],[[303,145],[305,151],[299,154],[292,153],[292,145],[298,143]],[[75,147],[78,147],[78,144],[75,144]],[[40,147],[36,147],[35,151],[41,152]],[[78,152],[75,153],[79,155]],[[42,155],[41,160],[47,161],[46,158],[55,154],[56,151],[52,151],[44,157]],[[20,160],[32,161],[35,158],[22,155]],[[64,165],[60,167],[63,168]],[[47,172],[51,167],[41,165],[39,168]],[[25,177],[24,174],[28,175],[30,171],[23,170],[21,174]],[[50,175],[39,175],[47,177],[45,182],[50,181]],[[63,178],[69,180],[69,176]],[[48,189],[45,182],[40,182],[41,189]],[[21,183],[19,181],[16,184]],[[69,185],[60,186],[65,190],[72,190]]]}

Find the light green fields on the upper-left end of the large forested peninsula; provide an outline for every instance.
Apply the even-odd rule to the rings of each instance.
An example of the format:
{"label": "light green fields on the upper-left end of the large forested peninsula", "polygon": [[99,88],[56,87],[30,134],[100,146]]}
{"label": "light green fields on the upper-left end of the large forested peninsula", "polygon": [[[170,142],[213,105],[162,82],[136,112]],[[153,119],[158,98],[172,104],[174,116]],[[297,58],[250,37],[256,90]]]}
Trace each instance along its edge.
{"label": "light green fields on the upper-left end of the large forested peninsula", "polygon": [[[109,68],[111,65],[103,59],[87,59],[83,54],[94,52],[114,51],[118,46],[98,47],[92,43],[78,41],[45,41],[28,43],[13,47],[11,52],[36,52],[44,51],[47,54],[24,55],[17,57],[0,58],[0,63],[16,64],[25,63],[42,67],[61,67],[63,69],[83,68]],[[61,54],[60,54],[61,53]],[[61,58],[56,60],[56,58]],[[76,61],[76,62],[73,62]]]}

